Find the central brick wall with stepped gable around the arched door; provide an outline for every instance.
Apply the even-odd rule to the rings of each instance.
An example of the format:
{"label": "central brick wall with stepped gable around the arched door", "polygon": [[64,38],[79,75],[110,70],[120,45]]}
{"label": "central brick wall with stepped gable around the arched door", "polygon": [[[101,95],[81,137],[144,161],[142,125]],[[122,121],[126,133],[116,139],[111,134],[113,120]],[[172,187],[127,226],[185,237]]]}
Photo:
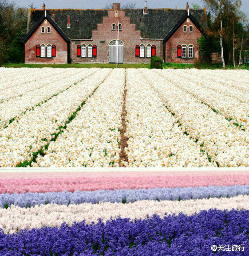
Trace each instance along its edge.
{"label": "central brick wall with stepped gable around the arched door", "polygon": [[[92,32],[92,40],[89,41],[70,41],[70,57],[73,63],[80,62],[109,62],[109,42],[117,39],[116,31],[112,31],[112,24],[122,24],[122,30],[119,32],[119,40],[124,43],[124,63],[150,63],[151,58],[138,58],[135,56],[137,44],[156,45],[156,55],[163,59],[163,40],[141,40],[140,30],[136,30],[136,25],[130,23],[130,18],[125,17],[124,10],[109,10],[108,17],[103,17],[102,24],[97,25],[97,30]],[[100,41],[105,41],[100,42]],[[97,45],[97,57],[81,58],[77,57],[78,44]],[[146,51],[146,50],[145,50]],[[146,56],[146,55],[145,55]]]}

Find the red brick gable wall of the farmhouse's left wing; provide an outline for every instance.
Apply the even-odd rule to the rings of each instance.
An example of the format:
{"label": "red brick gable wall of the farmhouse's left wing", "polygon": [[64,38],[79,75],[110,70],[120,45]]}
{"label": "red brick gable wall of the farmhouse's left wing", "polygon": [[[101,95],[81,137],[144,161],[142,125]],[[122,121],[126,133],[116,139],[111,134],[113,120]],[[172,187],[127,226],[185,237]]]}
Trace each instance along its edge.
{"label": "red brick gable wall of the farmhouse's left wing", "polygon": [[[45,34],[41,33],[41,27],[45,27]],[[47,33],[47,27],[50,26],[51,33]],[[40,58],[36,57],[36,45],[51,44],[56,45],[56,57]],[[46,56],[46,55],[45,55]],[[25,44],[25,63],[68,63],[68,45],[60,34],[47,21],[42,22],[39,28],[33,33]]]}

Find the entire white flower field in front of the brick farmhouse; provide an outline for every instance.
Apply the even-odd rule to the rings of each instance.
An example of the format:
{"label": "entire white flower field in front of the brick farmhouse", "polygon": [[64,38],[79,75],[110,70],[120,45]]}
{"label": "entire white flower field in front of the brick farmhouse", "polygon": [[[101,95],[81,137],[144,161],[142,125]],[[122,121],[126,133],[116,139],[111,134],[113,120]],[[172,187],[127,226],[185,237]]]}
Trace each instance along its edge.
{"label": "entire white flower field in front of the brick farmhouse", "polygon": [[0,68],[0,166],[249,166],[247,70]]}

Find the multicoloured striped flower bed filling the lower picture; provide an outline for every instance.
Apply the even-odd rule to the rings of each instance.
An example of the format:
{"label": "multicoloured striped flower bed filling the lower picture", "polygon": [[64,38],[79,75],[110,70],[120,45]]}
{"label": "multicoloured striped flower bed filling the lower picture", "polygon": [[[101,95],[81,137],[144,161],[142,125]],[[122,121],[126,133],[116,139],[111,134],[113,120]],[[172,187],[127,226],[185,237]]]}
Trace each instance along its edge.
{"label": "multicoloured striped flower bed filling the lower picture", "polygon": [[[165,178],[167,184],[167,179],[175,177],[175,185],[188,177],[186,185],[192,187],[174,188],[172,183],[151,188],[148,183],[146,189],[100,191],[96,186],[94,191],[73,193],[3,193],[0,255],[212,255],[213,245],[238,245],[241,250],[233,255],[247,255],[249,174],[238,173],[1,173],[1,185],[11,176],[20,182],[21,176],[41,180],[48,175],[57,181],[69,176],[86,181],[84,177],[90,176],[96,184],[106,183],[104,177],[121,176],[128,187],[136,177],[142,184],[148,178]],[[236,185],[239,177],[247,185]],[[212,179],[233,180],[234,185],[198,185],[204,180],[211,184]],[[70,188],[71,182],[65,183],[65,188]],[[37,184],[37,191],[39,186],[43,185]]]}

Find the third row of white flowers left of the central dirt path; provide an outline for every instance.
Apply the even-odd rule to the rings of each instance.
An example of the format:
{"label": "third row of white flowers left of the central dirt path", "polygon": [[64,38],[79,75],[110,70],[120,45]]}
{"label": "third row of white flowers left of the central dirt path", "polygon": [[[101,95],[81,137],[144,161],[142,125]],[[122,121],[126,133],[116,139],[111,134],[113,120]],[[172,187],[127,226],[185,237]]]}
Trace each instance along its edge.
{"label": "third row of white flowers left of the central dirt path", "polygon": [[0,104],[0,127],[5,126],[10,119],[18,117],[27,109],[31,109],[53,95],[73,86],[97,70],[99,69],[83,69],[82,71],[80,69],[72,69],[52,83],[50,77],[42,79],[42,86],[39,86],[37,82],[33,82],[34,86],[37,84],[37,90],[28,91],[21,97],[13,98]]}

